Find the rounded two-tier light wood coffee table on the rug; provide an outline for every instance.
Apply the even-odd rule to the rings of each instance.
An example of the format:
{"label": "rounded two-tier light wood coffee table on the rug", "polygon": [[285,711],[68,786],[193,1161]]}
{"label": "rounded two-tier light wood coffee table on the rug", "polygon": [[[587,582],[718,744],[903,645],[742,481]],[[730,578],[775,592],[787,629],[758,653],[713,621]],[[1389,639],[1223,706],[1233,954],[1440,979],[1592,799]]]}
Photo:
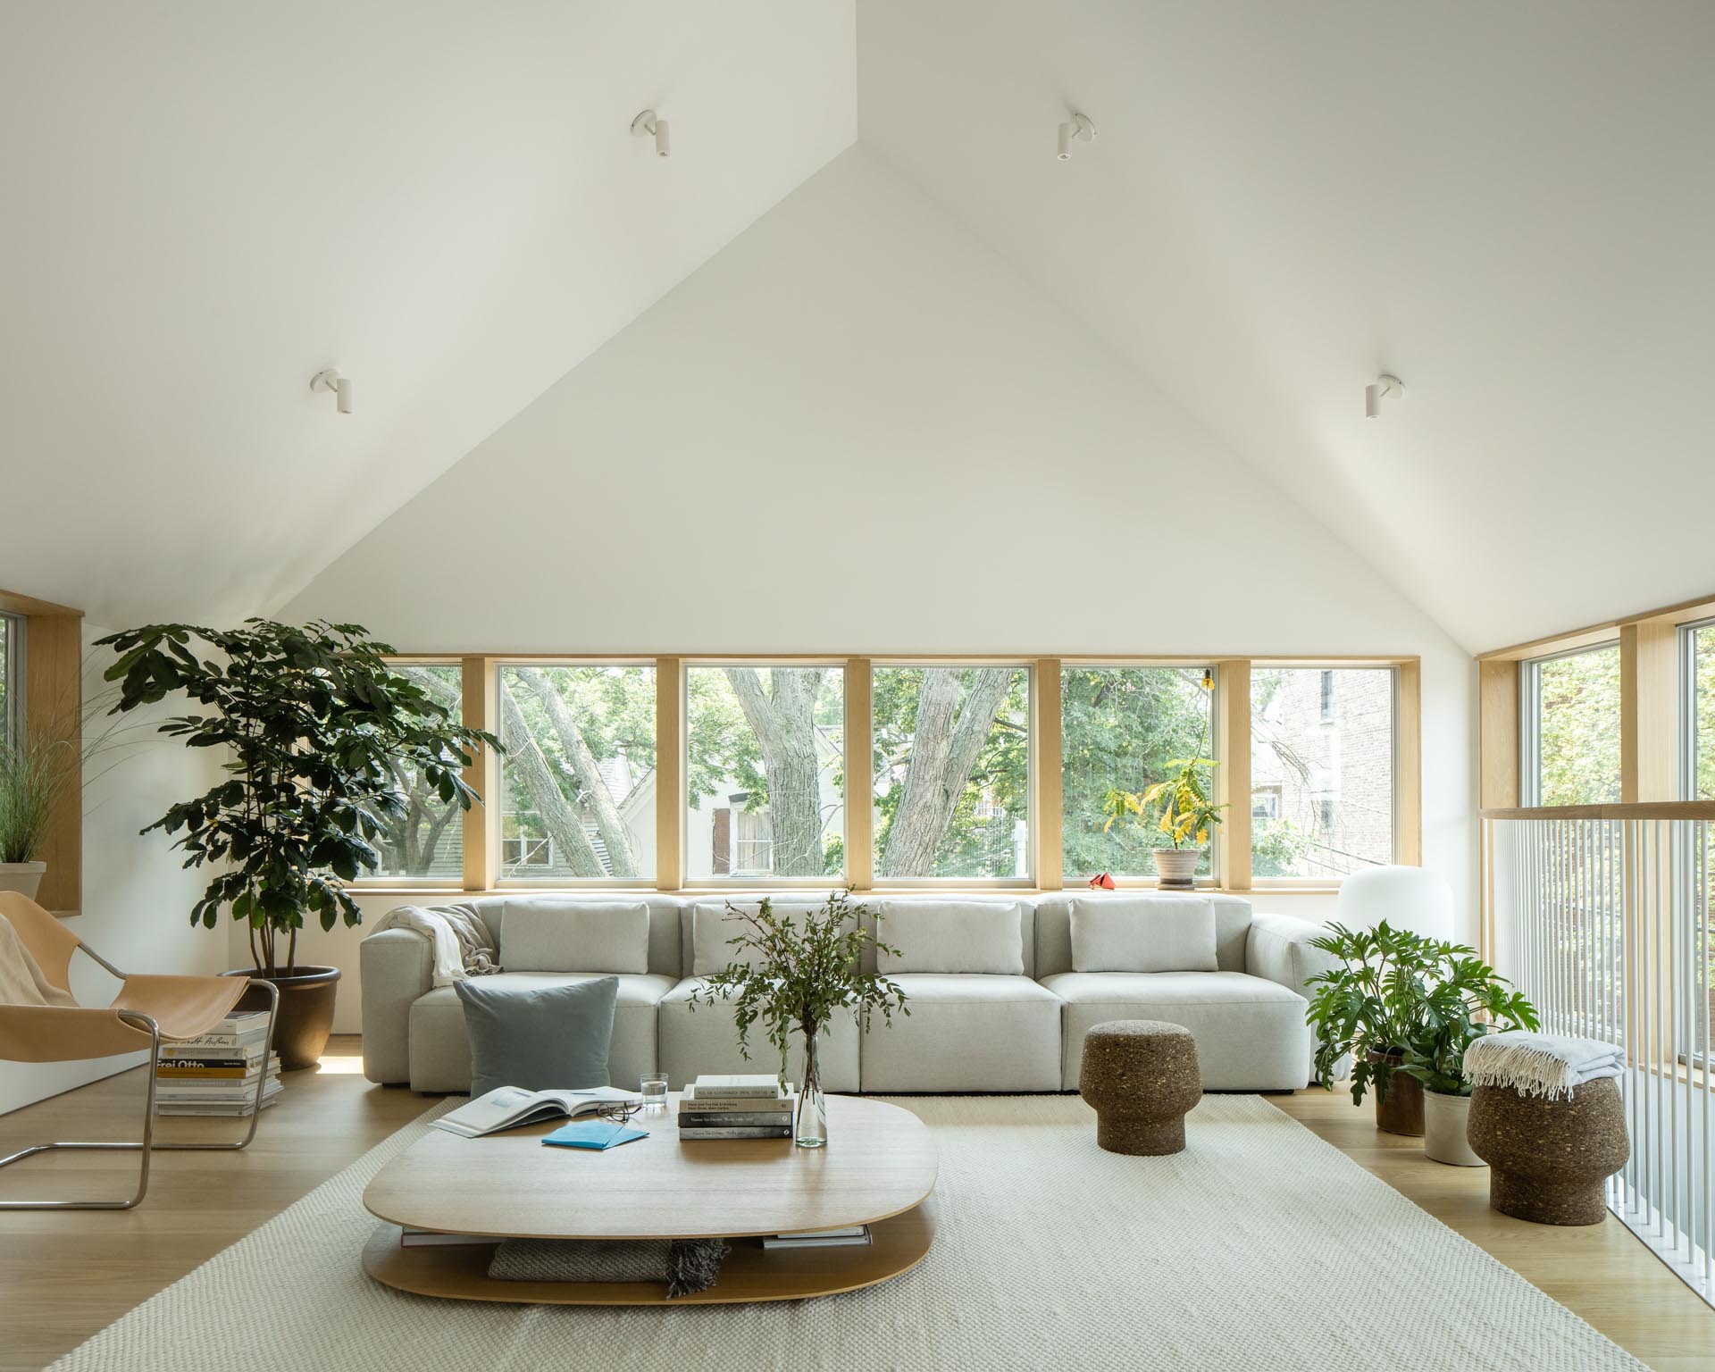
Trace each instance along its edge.
{"label": "rounded two-tier light wood coffee table on the rug", "polygon": [[[430,1128],[364,1190],[384,1221],[364,1249],[376,1281],[424,1297],[542,1305],[665,1305],[665,1283],[494,1281],[501,1238],[727,1238],[720,1281],[672,1305],[801,1300],[916,1267],[935,1240],[935,1142],[907,1110],[828,1096],[828,1146],[679,1142],[677,1099],[633,1123],[650,1137],[593,1152],[547,1147],[551,1125],[460,1139]],[[401,1247],[400,1226],[482,1243]],[[868,1225],[851,1249],[763,1250],[761,1237]]]}

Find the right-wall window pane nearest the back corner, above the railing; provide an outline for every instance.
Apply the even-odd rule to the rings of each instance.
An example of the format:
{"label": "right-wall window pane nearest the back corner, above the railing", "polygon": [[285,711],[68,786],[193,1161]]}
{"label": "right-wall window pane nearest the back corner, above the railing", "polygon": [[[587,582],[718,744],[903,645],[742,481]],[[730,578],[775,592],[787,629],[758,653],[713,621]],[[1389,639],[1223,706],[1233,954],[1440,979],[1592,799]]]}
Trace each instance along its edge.
{"label": "right-wall window pane nearest the back corner, above the railing", "polygon": [[1519,669],[1525,804],[1619,803],[1619,643]]}

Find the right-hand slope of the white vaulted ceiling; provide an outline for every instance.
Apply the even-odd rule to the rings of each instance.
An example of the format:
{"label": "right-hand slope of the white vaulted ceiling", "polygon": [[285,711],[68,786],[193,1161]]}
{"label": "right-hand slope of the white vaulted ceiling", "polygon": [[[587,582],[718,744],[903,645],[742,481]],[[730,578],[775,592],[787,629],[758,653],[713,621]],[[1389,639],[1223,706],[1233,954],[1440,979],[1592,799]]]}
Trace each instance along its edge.
{"label": "right-hand slope of the white vaulted ceiling", "polygon": [[1715,592],[1715,5],[864,0],[858,34],[864,144],[1466,648]]}

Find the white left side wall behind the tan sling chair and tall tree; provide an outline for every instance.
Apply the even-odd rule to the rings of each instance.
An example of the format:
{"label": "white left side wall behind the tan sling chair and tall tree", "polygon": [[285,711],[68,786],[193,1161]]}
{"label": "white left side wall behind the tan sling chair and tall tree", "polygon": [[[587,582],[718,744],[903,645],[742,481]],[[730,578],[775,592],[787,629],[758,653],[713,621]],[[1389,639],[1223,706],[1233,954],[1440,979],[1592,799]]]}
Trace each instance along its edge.
{"label": "white left side wall behind the tan sling chair and tall tree", "polygon": [[[108,648],[89,648],[105,629],[84,626],[84,703],[96,703],[111,688],[101,669],[113,660]],[[218,972],[226,962],[225,933],[190,928],[190,906],[206,876],[180,868],[180,858],[161,833],[141,835],[170,804],[214,784],[216,760],[204,749],[158,737],[154,720],[182,713],[168,701],[153,712],[134,712],[120,722],[98,756],[84,768],[84,883],[82,911],[67,926],[127,972]],[[93,719],[89,732],[113,720]],[[72,991],[84,1005],[106,1005],[118,983],[89,959],[72,959]],[[98,1058],[70,1063],[0,1062],[0,1113],[45,1096],[111,1075],[142,1060]],[[141,1101],[139,1101],[141,1106]]]}

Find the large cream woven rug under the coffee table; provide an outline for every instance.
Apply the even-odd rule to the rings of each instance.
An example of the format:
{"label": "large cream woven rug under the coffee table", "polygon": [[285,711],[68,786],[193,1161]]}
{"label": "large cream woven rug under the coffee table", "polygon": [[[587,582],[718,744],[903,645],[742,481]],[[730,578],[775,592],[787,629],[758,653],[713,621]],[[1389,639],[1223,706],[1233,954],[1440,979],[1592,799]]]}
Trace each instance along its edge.
{"label": "large cream woven rug under the coffee table", "polygon": [[921,1267],[866,1291],[592,1310],[388,1290],[358,1267],[358,1197],[418,1122],[55,1369],[1643,1367],[1257,1096],[1206,1096],[1175,1158],[1103,1152],[1068,1096],[897,1104],[935,1130],[940,1231]]}

